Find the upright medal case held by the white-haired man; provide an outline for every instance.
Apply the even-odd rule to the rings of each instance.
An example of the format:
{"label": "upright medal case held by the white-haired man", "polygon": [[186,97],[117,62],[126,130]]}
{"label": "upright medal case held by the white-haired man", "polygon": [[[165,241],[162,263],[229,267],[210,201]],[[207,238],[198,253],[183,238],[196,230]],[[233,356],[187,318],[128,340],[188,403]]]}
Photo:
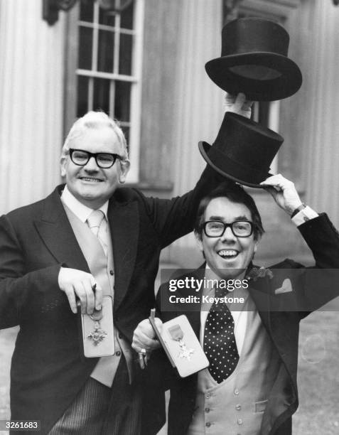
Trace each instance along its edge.
{"label": "upright medal case held by the white-haired man", "polygon": [[92,315],[81,314],[81,336],[86,358],[114,355],[113,304],[111,296],[103,296],[102,309]]}

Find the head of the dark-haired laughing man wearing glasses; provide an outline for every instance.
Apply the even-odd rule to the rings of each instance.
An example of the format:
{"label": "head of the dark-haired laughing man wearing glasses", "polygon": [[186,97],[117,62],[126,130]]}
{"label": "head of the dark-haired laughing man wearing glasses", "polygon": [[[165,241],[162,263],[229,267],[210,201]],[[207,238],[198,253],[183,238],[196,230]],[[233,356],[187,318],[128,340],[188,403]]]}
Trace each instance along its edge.
{"label": "head of the dark-haired laughing man wearing glasses", "polygon": [[250,199],[242,188],[234,186],[227,196],[205,198],[198,209],[198,245],[208,267],[221,278],[244,274],[264,232],[257,207]]}

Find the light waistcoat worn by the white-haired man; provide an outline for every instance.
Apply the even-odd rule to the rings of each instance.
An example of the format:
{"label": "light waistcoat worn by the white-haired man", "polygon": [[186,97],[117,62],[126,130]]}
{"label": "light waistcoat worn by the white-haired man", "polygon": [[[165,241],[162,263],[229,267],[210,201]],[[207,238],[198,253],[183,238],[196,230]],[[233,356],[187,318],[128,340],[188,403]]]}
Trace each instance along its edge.
{"label": "light waistcoat worn by the white-haired man", "polygon": [[[88,225],[77,218],[67,205],[63,204],[63,206],[91,274],[95,277],[99,286],[102,287],[103,296],[112,296],[112,301],[114,301],[113,249],[109,226],[107,225],[108,246],[106,257],[102,245]],[[127,368],[129,370],[129,382],[131,382],[132,379],[133,358],[131,346],[121,337],[121,335],[119,335],[119,333],[117,333],[115,328],[114,349],[114,355],[99,358],[99,361],[91,374],[91,377],[102,384],[107,385],[107,387],[112,386],[122,352],[124,353]]]}

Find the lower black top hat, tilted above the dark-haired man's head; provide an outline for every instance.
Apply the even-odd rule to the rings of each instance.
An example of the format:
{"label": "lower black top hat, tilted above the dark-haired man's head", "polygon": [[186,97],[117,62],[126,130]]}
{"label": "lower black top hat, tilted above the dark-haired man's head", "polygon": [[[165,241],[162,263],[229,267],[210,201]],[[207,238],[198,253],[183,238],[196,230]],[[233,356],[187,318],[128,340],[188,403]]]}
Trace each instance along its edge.
{"label": "lower black top hat, tilted above the dark-haired man's head", "polygon": [[214,144],[200,141],[199,150],[218,173],[245,186],[262,188],[259,183],[271,176],[269,165],[283,142],[275,131],[226,112]]}

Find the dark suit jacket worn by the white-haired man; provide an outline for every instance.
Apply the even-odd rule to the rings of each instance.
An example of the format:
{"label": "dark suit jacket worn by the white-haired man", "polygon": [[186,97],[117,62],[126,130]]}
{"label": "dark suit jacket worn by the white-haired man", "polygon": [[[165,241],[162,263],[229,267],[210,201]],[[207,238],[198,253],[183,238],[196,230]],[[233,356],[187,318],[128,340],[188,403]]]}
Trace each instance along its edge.
{"label": "dark suit jacket worn by the white-haired man", "polygon": [[[114,323],[128,340],[154,307],[161,249],[193,229],[200,198],[219,181],[206,168],[182,197],[159,200],[120,188],[109,200]],[[63,414],[97,363],[80,357],[77,316],[58,286],[61,266],[90,272],[60,202],[62,187],[0,218],[0,328],[20,325],[11,419],[41,420],[41,433]]]}

